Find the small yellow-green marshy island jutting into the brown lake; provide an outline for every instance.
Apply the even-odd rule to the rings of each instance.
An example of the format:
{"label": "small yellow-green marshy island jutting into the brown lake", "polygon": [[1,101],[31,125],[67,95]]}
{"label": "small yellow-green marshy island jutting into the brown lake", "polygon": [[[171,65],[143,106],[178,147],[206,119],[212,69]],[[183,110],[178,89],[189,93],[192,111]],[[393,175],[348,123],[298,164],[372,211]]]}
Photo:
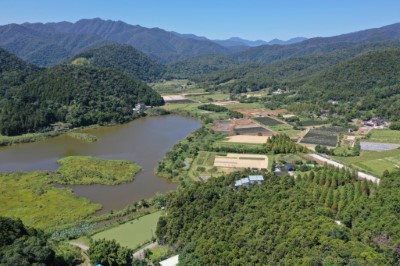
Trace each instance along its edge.
{"label": "small yellow-green marshy island jutting into the brown lake", "polygon": [[70,156],[57,161],[57,182],[61,184],[117,185],[130,182],[142,170],[136,163],[91,156]]}

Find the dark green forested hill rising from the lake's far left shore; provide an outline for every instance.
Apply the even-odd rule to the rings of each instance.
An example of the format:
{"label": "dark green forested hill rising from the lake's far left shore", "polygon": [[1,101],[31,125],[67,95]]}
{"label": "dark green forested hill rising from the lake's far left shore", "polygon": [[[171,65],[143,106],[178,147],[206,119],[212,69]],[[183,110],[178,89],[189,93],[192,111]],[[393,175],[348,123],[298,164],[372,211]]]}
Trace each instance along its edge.
{"label": "dark green forested hill rising from the lake's far left shore", "polygon": [[58,65],[36,73],[4,102],[0,132],[35,132],[55,122],[74,127],[122,123],[133,118],[136,103],[163,102],[146,84],[121,72]]}

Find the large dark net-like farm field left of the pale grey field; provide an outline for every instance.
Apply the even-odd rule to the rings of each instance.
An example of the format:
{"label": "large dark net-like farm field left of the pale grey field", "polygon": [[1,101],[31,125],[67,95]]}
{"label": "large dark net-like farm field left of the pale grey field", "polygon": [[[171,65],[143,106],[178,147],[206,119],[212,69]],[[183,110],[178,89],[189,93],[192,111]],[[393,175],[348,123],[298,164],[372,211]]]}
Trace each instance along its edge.
{"label": "large dark net-like farm field left of the pale grey field", "polygon": [[313,128],[303,137],[300,143],[335,147],[339,134],[344,131],[345,129],[340,127]]}

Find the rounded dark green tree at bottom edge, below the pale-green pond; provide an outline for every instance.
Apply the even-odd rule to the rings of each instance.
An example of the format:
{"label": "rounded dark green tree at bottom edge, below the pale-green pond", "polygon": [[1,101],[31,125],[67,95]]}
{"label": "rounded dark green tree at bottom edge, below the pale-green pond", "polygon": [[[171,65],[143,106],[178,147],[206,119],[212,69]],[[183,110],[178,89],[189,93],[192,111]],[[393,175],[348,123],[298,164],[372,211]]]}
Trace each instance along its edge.
{"label": "rounded dark green tree at bottom edge, below the pale-green pond", "polygon": [[88,250],[93,264],[106,266],[146,266],[144,261],[132,258],[133,250],[119,245],[115,240],[95,240]]}

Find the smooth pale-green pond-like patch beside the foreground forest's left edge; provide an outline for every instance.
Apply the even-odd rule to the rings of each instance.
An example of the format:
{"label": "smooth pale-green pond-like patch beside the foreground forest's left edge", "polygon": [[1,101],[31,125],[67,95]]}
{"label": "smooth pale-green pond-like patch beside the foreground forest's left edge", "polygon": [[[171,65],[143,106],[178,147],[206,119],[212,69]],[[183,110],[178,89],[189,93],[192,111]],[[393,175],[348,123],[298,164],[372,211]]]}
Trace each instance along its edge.
{"label": "smooth pale-green pond-like patch beside the foreground forest's left edge", "polygon": [[155,237],[158,218],[161,211],[154,212],[117,227],[95,234],[93,239],[115,239],[122,246],[136,249]]}

